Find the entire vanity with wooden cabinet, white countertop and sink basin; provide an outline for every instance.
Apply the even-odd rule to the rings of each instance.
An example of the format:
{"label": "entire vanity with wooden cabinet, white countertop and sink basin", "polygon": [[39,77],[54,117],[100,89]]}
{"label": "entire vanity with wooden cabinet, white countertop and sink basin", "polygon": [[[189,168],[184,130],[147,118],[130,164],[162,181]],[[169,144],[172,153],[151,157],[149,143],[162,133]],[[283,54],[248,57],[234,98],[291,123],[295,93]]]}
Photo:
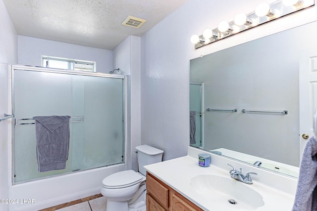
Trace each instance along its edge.
{"label": "entire vanity with wooden cabinet, white countertop and sink basin", "polygon": [[[210,167],[198,165],[198,154],[189,147],[187,156],[145,166],[147,169],[147,211],[289,211],[297,179],[259,169],[210,153]],[[253,184],[230,177],[232,169],[252,175]]]}

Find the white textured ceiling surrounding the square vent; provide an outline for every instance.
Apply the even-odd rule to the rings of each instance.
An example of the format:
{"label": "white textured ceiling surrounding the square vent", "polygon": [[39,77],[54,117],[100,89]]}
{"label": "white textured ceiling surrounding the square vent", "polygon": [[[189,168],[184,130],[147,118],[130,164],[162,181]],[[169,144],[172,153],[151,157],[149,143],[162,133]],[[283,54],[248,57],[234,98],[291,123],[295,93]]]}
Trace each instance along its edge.
{"label": "white textured ceiling surrounding the square vent", "polygon": [[[3,0],[18,35],[112,50],[142,36],[188,0]],[[121,25],[128,16],[147,20]]]}

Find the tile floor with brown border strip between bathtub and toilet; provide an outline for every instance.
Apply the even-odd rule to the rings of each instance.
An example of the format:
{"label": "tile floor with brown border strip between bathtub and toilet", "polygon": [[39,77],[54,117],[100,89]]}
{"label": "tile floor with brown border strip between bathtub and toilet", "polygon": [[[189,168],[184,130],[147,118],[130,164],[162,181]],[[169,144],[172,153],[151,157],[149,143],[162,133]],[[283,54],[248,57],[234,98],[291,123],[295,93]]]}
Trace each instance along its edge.
{"label": "tile floor with brown border strip between bathtub and toilet", "polygon": [[106,203],[106,197],[97,194],[41,211],[106,211]]}

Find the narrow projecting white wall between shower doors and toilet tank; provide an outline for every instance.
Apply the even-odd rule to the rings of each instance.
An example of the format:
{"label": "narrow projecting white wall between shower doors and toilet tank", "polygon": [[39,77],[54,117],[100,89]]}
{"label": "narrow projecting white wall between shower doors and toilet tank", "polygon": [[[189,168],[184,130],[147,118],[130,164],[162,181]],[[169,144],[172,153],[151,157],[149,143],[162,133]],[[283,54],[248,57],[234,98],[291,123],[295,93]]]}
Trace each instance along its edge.
{"label": "narrow projecting white wall between shower doors and toilet tank", "polygon": [[127,144],[128,169],[137,170],[135,147],[141,144],[140,127],[140,37],[129,36],[113,50],[113,68],[127,76]]}

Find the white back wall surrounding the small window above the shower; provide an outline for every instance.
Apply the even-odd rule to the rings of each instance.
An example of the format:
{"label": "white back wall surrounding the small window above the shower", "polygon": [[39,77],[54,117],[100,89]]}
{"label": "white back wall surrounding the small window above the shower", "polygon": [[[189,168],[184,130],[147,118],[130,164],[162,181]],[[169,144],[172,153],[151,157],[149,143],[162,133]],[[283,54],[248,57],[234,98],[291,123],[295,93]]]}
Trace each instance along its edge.
{"label": "white back wall surrounding the small window above the shower", "polygon": [[101,73],[112,70],[111,50],[18,36],[18,64],[41,67],[43,55],[95,61]]}

